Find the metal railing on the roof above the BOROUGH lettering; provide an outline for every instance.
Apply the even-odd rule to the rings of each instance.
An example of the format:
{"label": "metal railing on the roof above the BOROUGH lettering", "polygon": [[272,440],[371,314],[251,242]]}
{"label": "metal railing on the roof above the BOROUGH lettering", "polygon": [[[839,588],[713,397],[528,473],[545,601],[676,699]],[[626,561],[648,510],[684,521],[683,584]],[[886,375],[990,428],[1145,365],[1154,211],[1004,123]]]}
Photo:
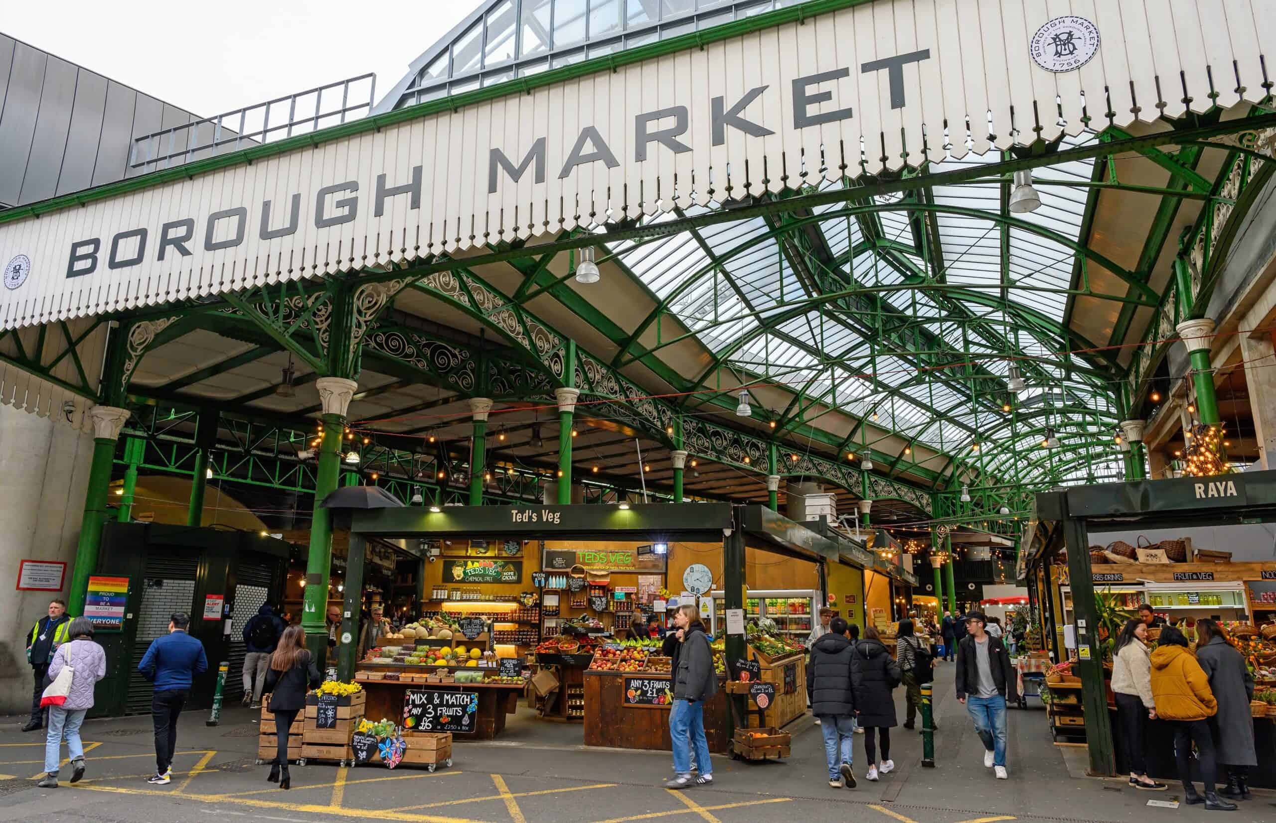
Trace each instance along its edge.
{"label": "metal railing on the roof above the BOROUGH lettering", "polygon": [[366,117],[375,101],[375,74],[337,80],[134,138],[129,150],[129,168],[153,172],[223,152],[319,131]]}

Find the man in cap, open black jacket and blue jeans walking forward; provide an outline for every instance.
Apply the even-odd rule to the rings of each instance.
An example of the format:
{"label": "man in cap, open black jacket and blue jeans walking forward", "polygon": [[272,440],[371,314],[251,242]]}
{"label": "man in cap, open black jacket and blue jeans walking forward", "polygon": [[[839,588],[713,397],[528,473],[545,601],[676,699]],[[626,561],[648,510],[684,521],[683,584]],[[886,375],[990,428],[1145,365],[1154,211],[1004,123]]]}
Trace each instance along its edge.
{"label": "man in cap, open black jacket and blue jeans walking forward", "polygon": [[1014,670],[1005,646],[984,631],[985,624],[979,612],[966,615],[966,637],[957,643],[957,702],[984,741],[984,766],[1005,780],[1005,701],[1014,697]]}

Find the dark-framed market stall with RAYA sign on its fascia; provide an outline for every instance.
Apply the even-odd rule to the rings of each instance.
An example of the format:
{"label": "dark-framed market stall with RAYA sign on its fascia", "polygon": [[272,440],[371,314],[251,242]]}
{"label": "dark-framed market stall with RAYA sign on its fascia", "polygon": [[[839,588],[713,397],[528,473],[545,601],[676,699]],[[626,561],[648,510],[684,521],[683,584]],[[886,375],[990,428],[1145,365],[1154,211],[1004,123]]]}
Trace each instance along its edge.
{"label": "dark-framed market stall with RAYA sign on its fascia", "polygon": [[[1092,772],[1110,775],[1124,766],[1124,741],[1110,717],[1111,640],[1138,604],[1148,603],[1189,638],[1201,618],[1233,634],[1258,684],[1252,715],[1259,766],[1250,769],[1250,784],[1276,787],[1267,712],[1276,702],[1276,613],[1266,610],[1276,600],[1267,594],[1276,581],[1272,524],[1273,471],[1037,496],[1018,577],[1028,582],[1036,628],[1054,661],[1044,692],[1051,734],[1083,741]],[[1176,778],[1166,752],[1173,752],[1169,727],[1152,721],[1150,767]]]}

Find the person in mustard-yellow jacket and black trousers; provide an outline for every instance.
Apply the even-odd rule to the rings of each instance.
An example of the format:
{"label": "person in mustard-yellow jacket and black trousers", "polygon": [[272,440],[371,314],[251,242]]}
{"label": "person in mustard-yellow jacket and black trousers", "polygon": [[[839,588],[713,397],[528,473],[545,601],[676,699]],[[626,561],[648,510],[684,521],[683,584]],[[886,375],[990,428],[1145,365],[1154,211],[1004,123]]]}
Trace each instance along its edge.
{"label": "person in mustard-yellow jacket and black trousers", "polygon": [[[1174,758],[1185,799],[1188,804],[1203,803],[1206,809],[1213,812],[1233,812],[1236,804],[1224,800],[1213,790],[1219,763],[1213,734],[1206,721],[1219,711],[1219,702],[1210,691],[1210,679],[1188,651],[1188,638],[1183,632],[1173,627],[1162,628],[1157,642],[1160,646],[1152,652],[1152,699],[1156,702],[1156,716],[1174,729]],[[1189,755],[1193,743],[1201,763],[1205,798],[1192,784]]]}

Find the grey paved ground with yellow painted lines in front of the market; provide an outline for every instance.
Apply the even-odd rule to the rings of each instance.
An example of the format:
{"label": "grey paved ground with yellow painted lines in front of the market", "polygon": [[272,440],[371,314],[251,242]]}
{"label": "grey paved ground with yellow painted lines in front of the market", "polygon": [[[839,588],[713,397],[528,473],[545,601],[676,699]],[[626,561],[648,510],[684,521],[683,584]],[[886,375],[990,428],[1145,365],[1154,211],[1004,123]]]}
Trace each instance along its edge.
{"label": "grey paved ground with yellow painted lines in front of the market", "polygon": [[[588,749],[579,744],[579,726],[518,717],[501,740],[458,744],[452,768],[429,773],[311,763],[292,767],[293,787],[285,792],[267,784],[267,768],[254,763],[256,712],[234,708],[213,729],[204,726],[203,713],[182,717],[174,782],[158,787],[144,781],[154,769],[149,719],[85,724],[88,776],[56,790],[34,785],[42,740],[20,734],[17,724],[0,724],[0,820],[1147,823],[1217,817],[1199,806],[1148,808],[1147,800],[1169,800],[1173,794],[1150,795],[1120,781],[1081,777],[1076,769],[1083,768],[1078,763],[1083,752],[1068,750],[1065,758],[1051,745],[1040,708],[1011,711],[1011,780],[994,780],[983,767],[983,750],[963,707],[951,697],[951,666],[940,666],[938,768],[921,768],[920,739],[897,729],[892,741],[897,771],[869,784],[863,780],[857,735],[856,790],[828,787],[819,729],[809,719],[790,726],[790,759],[750,764],[715,758],[712,789],[671,792],[658,787],[670,773],[667,753]],[[1243,804],[1226,819],[1276,820],[1276,794]]]}

